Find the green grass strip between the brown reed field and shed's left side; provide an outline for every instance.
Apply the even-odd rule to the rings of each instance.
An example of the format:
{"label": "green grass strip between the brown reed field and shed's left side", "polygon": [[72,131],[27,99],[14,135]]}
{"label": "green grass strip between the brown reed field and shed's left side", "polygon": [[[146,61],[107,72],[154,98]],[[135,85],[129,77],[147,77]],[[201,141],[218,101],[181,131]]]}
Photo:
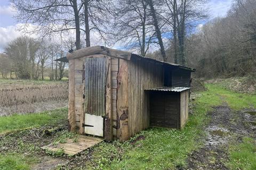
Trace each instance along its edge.
{"label": "green grass strip between the brown reed field and shed's left side", "polygon": [[59,124],[67,120],[67,108],[55,109],[36,114],[23,114],[0,117],[0,134],[43,125]]}

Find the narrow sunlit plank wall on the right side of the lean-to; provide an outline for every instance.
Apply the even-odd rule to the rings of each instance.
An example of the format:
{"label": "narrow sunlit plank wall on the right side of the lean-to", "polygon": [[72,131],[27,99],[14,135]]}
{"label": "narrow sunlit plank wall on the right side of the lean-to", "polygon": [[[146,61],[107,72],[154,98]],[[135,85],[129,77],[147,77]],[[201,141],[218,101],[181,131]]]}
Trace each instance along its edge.
{"label": "narrow sunlit plank wall on the right side of the lean-to", "polygon": [[188,120],[188,92],[189,90],[186,90],[180,94],[180,128],[183,128]]}

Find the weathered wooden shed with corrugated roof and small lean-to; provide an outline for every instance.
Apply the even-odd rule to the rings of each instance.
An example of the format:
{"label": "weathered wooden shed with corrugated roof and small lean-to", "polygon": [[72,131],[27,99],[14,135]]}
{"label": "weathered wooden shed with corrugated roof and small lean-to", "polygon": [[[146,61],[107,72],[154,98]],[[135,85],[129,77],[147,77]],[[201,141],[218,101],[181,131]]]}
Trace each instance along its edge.
{"label": "weathered wooden shed with corrugated roof and small lean-to", "polygon": [[102,46],[67,59],[70,131],[124,141],[149,126],[185,125],[194,69]]}

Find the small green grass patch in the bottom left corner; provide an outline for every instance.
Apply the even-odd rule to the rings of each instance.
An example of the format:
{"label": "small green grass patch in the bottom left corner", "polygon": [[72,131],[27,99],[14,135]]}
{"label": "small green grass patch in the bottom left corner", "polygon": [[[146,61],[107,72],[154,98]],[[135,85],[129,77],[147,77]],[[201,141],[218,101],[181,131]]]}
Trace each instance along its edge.
{"label": "small green grass patch in the bottom left corner", "polygon": [[20,154],[0,155],[1,170],[28,170],[35,162],[37,162],[35,157]]}

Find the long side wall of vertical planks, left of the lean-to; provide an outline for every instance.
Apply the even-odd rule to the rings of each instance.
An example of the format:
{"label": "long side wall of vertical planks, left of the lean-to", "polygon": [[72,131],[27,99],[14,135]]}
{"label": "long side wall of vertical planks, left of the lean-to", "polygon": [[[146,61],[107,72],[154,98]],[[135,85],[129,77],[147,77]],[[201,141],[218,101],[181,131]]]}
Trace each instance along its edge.
{"label": "long side wall of vertical planks, left of the lean-to", "polygon": [[[120,63],[121,61],[123,62],[123,60],[120,60]],[[124,112],[127,106],[126,104],[123,104],[122,106],[117,106],[117,111],[118,115],[121,114],[119,113],[121,111],[123,111],[122,114],[125,113],[124,117],[127,116],[128,126],[125,130],[119,130],[117,138],[119,138],[120,140],[128,139],[135,133],[138,133],[141,130],[148,128],[149,95],[146,94],[144,90],[163,86],[163,70],[161,64],[131,58],[131,61],[124,62],[123,65],[127,65],[127,73],[125,75],[125,72],[123,72],[122,79],[118,81],[118,83],[121,84],[118,85],[119,88],[117,91],[117,103],[118,100],[120,100],[119,102],[121,103],[123,102],[124,98],[127,98],[128,110],[127,112]],[[119,68],[121,67],[122,65],[120,64]],[[118,79],[121,76],[121,74],[119,73]],[[125,81],[127,81],[127,85]],[[123,86],[122,89],[120,88],[121,85]],[[127,88],[125,88],[125,86],[127,86]],[[128,96],[123,96],[121,94],[128,94]],[[119,95],[120,97],[123,96],[123,98],[119,98]],[[124,124],[126,124],[126,122]]]}

